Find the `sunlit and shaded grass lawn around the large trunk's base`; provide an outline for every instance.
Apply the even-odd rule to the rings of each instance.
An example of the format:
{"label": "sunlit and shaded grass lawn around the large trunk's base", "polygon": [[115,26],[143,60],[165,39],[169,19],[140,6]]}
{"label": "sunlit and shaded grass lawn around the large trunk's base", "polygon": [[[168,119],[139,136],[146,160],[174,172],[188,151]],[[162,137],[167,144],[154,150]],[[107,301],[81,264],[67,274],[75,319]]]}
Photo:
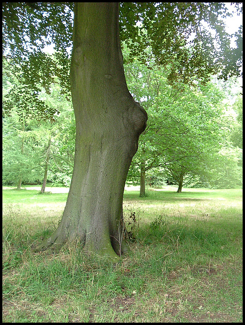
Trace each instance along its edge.
{"label": "sunlit and shaded grass lawn around the large trunk's base", "polygon": [[67,193],[4,189],[3,322],[242,322],[242,190],[176,190],[124,191],[132,238],[113,265],[33,253]]}

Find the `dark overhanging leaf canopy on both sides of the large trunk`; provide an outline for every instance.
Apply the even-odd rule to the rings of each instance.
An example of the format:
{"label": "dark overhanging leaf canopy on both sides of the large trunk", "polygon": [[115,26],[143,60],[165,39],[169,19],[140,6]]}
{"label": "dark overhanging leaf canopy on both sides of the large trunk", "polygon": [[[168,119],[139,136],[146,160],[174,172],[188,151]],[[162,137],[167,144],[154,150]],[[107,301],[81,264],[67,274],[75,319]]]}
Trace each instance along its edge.
{"label": "dark overhanging leaf canopy on both sides of the large trunk", "polygon": [[[42,49],[54,43],[64,62],[72,46],[73,8],[73,3],[3,3],[4,53],[30,63],[30,54],[40,56],[41,66],[37,59],[30,64],[32,71],[40,70],[47,67]],[[236,9],[241,12],[240,3]],[[217,73],[227,79],[240,75],[242,56],[241,28],[234,35],[237,47],[230,47],[223,20],[228,15],[225,3],[120,3],[121,40],[146,64],[142,49],[151,45],[156,62],[171,65],[169,82],[205,81]]]}

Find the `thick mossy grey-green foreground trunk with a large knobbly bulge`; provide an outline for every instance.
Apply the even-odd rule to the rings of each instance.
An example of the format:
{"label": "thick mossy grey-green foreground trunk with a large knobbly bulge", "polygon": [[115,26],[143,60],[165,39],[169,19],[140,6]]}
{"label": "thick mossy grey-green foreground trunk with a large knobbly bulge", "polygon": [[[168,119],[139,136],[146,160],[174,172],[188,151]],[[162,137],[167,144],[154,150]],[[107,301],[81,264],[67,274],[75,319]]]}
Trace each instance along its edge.
{"label": "thick mossy grey-green foreground trunk with a large knobbly bulge", "polygon": [[74,172],[62,220],[39,249],[80,242],[86,251],[116,259],[126,250],[126,176],[147,121],[125,81],[118,3],[75,3],[73,42]]}

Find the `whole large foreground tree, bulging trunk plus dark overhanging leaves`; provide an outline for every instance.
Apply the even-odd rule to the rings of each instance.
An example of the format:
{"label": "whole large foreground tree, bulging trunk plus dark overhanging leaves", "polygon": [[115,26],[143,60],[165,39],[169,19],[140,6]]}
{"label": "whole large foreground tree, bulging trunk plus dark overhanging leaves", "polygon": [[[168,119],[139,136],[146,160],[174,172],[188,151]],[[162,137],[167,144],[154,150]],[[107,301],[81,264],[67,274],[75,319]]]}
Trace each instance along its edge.
{"label": "whole large foreground tree, bulging trunk plus dark overhanging leaves", "polygon": [[[72,42],[71,8],[65,3],[5,3],[4,46],[27,61],[30,45],[40,54],[39,40],[44,37],[54,40],[56,50],[65,53]],[[140,50],[143,37],[135,22],[141,20],[147,30],[144,46],[151,42],[158,62],[167,66],[178,59],[178,64],[170,66],[169,81],[188,83],[194,75],[205,81],[224,68],[218,64],[224,52],[226,57],[232,54],[229,36],[218,19],[225,12],[220,3],[124,3],[122,39],[136,40],[134,49]],[[202,20],[216,30],[216,47],[211,33],[200,29]],[[62,220],[40,249],[79,241],[86,250],[112,258],[125,251],[121,241],[123,189],[147,114],[127,89],[119,31],[118,4],[75,3],[70,74],[76,117],[74,172]],[[191,32],[195,38],[187,55],[185,45],[190,44]],[[235,67],[228,60],[225,63],[231,69],[225,77],[230,71],[238,73],[238,60]]]}

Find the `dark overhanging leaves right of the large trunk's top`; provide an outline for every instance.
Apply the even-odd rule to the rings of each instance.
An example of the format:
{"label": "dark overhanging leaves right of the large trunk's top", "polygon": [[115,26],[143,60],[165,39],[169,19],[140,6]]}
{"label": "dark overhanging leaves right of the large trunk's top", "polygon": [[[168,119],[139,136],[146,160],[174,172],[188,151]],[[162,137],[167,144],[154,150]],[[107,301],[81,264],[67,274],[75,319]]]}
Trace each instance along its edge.
{"label": "dark overhanging leaves right of the large trunk's top", "polygon": [[[171,63],[169,81],[188,83],[193,75],[205,80],[218,72],[224,79],[240,74],[241,27],[235,34],[237,48],[232,49],[224,3],[122,3],[121,9],[121,39],[145,61],[142,50],[150,45],[156,63]],[[241,11],[238,4],[236,9]]]}

